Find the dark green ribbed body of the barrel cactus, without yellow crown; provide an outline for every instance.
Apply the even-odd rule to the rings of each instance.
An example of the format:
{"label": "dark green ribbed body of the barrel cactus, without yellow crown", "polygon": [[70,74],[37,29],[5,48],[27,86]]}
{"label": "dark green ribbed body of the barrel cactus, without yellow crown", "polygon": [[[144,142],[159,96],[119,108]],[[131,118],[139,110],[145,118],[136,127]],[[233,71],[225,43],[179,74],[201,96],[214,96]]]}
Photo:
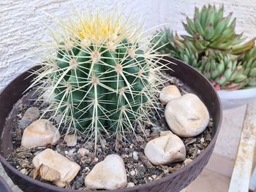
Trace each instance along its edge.
{"label": "dark green ribbed body of the barrel cactus, without yellow crown", "polygon": [[[120,120],[138,118],[138,109],[147,101],[143,88],[148,86],[148,66],[143,51],[135,50],[135,45],[127,43],[127,39],[122,42],[126,43],[113,51],[105,48],[106,45],[91,45],[72,51],[74,54],[67,51],[58,55],[58,68],[69,71],[64,77],[61,72],[55,74],[56,80],[62,80],[54,92],[57,101],[72,105],[69,115],[75,120],[76,128],[98,123],[97,126],[118,131]],[[59,94],[58,87],[70,93]]]}

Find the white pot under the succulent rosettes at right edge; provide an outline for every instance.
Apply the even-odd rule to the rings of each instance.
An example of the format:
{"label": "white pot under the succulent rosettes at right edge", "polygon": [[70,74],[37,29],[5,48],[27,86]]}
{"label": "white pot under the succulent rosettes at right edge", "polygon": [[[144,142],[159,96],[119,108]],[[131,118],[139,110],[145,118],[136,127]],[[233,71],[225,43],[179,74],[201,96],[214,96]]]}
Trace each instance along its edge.
{"label": "white pot under the succulent rosettes at right edge", "polygon": [[222,101],[224,110],[239,107],[256,99],[256,88],[241,89],[236,91],[217,91]]}

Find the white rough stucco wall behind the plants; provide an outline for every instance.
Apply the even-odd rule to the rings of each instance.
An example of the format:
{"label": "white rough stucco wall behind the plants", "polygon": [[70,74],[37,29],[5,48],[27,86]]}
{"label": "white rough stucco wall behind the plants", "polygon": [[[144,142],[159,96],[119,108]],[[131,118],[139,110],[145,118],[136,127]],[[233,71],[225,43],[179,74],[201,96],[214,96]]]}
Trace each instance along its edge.
{"label": "white rough stucco wall behind the plants", "polygon": [[[65,17],[70,4],[80,7],[105,6],[116,4],[117,0],[1,0],[0,1],[0,90],[10,80],[21,72],[29,69],[37,57],[36,42],[46,38],[45,27],[42,21],[46,13],[54,17]],[[208,1],[223,3],[224,1]],[[181,20],[185,15],[192,15],[195,6],[202,6],[203,0],[125,0],[126,12],[132,10],[147,19],[146,28],[166,23],[174,30],[184,32]],[[225,6],[228,12],[234,12],[238,17],[238,31],[244,31],[249,37],[256,33],[256,2],[254,0],[227,0]],[[185,14],[186,13],[186,14]],[[50,24],[50,23],[48,23]],[[32,61],[31,61],[32,60]]]}

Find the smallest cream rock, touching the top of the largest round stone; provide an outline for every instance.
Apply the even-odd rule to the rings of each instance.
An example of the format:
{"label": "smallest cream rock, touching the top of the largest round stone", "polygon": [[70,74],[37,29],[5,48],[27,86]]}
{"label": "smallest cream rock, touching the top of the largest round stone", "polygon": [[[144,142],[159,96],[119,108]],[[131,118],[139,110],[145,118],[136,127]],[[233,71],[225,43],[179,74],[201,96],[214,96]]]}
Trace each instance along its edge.
{"label": "smallest cream rock, touching the top of the largest round stone", "polygon": [[159,95],[159,99],[163,104],[167,104],[173,99],[178,99],[181,97],[181,92],[178,90],[176,85],[169,85],[162,89]]}

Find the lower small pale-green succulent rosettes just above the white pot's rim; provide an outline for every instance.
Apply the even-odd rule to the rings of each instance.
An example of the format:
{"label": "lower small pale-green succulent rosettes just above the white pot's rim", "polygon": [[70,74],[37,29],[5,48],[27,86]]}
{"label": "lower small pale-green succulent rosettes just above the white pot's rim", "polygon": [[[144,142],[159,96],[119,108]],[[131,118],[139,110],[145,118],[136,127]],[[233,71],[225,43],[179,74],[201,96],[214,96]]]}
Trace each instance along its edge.
{"label": "lower small pale-green succulent rosettes just above the white pot's rim", "polygon": [[200,72],[219,89],[236,90],[256,85],[255,49],[239,59],[235,55],[212,53],[200,61]]}

